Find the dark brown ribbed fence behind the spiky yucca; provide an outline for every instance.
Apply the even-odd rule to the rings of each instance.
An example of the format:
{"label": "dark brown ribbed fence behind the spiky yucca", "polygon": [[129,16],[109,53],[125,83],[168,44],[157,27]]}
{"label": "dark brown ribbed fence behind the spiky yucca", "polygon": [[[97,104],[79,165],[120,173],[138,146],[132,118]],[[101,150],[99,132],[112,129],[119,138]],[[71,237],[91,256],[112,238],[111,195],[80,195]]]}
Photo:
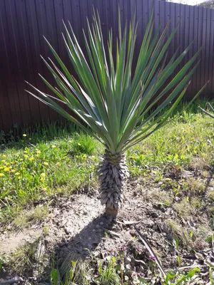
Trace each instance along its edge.
{"label": "dark brown ribbed fence behind the spiky yucca", "polygon": [[[121,9],[123,24],[131,19],[136,6],[138,38],[136,55],[143,32],[154,5],[155,26],[165,26],[170,21],[170,31],[180,20],[178,32],[169,48],[169,56],[180,46],[183,51],[197,38],[185,61],[203,45],[201,63],[193,76],[186,98],[192,97],[200,86],[210,79],[204,95],[214,93],[214,10],[198,6],[173,4],[155,0],[0,0],[0,130],[7,132],[14,124],[34,125],[41,120],[56,120],[58,114],[43,103],[28,95],[24,89],[29,81],[37,88],[46,90],[38,76],[43,74],[50,80],[51,75],[41,61],[50,51],[43,35],[49,39],[63,61],[71,68],[66,48],[63,46],[62,19],[70,21],[78,39],[83,43],[82,28],[86,28],[86,16],[91,20],[92,6],[98,9],[103,25],[104,38],[108,28],[117,34],[117,9]],[[135,58],[136,59],[136,58]]]}

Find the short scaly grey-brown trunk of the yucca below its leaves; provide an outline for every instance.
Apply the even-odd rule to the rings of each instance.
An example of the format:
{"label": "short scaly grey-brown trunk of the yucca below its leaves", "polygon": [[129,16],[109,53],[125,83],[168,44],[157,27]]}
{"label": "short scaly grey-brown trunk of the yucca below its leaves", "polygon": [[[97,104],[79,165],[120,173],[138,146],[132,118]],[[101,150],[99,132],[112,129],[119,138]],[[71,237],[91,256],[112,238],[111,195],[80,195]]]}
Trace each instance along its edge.
{"label": "short scaly grey-brown trunk of the yucca below its leaves", "polygon": [[98,167],[98,177],[101,182],[101,204],[106,204],[106,214],[116,217],[119,206],[124,202],[128,178],[126,155],[112,155],[106,150]]}

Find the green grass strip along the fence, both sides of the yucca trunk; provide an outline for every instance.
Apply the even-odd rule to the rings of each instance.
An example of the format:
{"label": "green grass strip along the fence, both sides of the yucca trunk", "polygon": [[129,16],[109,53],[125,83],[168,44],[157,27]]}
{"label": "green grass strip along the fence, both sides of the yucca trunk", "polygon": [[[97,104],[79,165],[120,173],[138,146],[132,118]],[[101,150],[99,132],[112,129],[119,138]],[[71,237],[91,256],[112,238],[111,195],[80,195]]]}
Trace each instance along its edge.
{"label": "green grass strip along the fence, both sides of the yucca trunk", "polygon": [[[171,122],[127,152],[131,175],[156,170],[161,180],[166,167],[175,171],[187,165],[205,169],[213,163],[213,124],[197,110],[205,101],[183,111],[178,107]],[[9,138],[7,138],[9,139]],[[6,137],[1,135],[1,142]],[[49,124],[26,128],[19,140],[11,135],[0,153],[0,220],[14,219],[25,207],[70,195],[96,185],[95,168],[102,147],[72,125]],[[198,187],[192,185],[191,187]],[[194,190],[195,191],[195,190]],[[199,190],[197,190],[199,191]]]}

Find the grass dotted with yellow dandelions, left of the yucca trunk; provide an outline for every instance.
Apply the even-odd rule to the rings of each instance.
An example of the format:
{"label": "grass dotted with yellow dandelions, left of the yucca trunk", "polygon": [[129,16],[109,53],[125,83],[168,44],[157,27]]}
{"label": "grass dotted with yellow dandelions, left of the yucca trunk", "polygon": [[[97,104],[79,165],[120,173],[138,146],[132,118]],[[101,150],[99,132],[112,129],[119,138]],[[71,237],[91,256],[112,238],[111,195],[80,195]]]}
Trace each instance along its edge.
{"label": "grass dotted with yellow dandelions, left of the yucca trunk", "polygon": [[[65,138],[34,144],[26,135],[17,142],[22,148],[17,149],[14,142],[13,147],[0,153],[0,221],[14,219],[23,207],[32,207],[34,202],[54,197],[62,190],[70,194],[93,184],[98,154],[71,157],[71,140],[66,134]],[[86,142],[86,150],[91,152],[92,139],[86,138]]]}

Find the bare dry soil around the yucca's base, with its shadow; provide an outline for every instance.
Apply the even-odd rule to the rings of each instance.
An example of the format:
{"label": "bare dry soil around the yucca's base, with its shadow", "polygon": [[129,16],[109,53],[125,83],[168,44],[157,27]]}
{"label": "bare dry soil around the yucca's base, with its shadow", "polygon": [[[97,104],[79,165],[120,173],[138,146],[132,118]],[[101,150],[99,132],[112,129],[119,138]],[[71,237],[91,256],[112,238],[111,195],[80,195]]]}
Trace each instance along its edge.
{"label": "bare dry soil around the yucca's base, with its shadow", "polygon": [[[189,169],[179,175],[175,177],[173,172],[168,172],[165,177],[171,176],[172,180],[193,177],[196,180],[200,172]],[[203,180],[207,190],[212,181],[210,172],[210,177]],[[208,263],[214,266],[212,240],[207,239],[209,231],[213,234],[210,215],[206,208],[199,210],[196,207],[188,217],[180,216],[174,206],[183,198],[179,195],[172,198],[171,192],[172,189],[162,182],[151,185],[146,177],[132,178],[125,193],[126,202],[116,220],[104,213],[95,191],[92,195],[83,192],[70,198],[58,197],[49,207],[44,222],[30,229],[14,232],[12,226],[1,227],[1,259],[11,256],[24,243],[37,244],[31,257],[31,269],[17,271],[12,264],[11,267],[7,264],[0,269],[0,284],[14,276],[20,276],[23,284],[49,284],[53,259],[63,274],[71,261],[95,258],[105,262],[121,251],[126,269],[141,273],[148,284],[162,284],[149,266],[153,257],[139,239],[135,226],[156,253],[155,258],[161,261],[166,273],[170,270],[180,274],[198,267],[200,272],[190,284],[210,284]],[[205,199],[205,195],[200,199]],[[178,239],[179,249],[175,247],[175,239]],[[158,266],[155,267],[159,272]],[[95,274],[93,267],[89,273]],[[133,284],[131,279],[130,282]]]}

